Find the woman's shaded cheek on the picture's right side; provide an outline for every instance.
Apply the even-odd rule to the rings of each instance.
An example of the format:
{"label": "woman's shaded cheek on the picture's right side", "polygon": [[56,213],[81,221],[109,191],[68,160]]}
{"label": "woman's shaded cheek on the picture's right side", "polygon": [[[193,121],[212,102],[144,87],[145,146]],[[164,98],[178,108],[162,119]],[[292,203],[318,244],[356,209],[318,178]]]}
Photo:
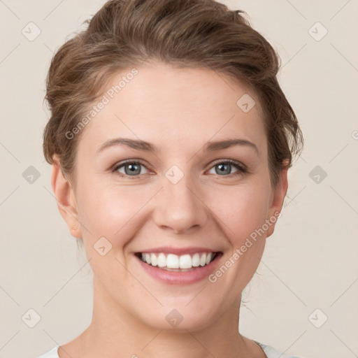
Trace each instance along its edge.
{"label": "woman's shaded cheek on the picture's right side", "polygon": [[[217,222],[230,248],[222,263],[224,268],[221,267],[211,279],[224,276],[222,285],[226,283],[235,287],[232,299],[248,285],[262,259],[266,243],[262,227],[268,213],[270,194],[269,187],[256,182],[226,188],[220,196],[213,195],[211,198],[213,213],[218,217]],[[227,273],[223,275],[222,272]]]}

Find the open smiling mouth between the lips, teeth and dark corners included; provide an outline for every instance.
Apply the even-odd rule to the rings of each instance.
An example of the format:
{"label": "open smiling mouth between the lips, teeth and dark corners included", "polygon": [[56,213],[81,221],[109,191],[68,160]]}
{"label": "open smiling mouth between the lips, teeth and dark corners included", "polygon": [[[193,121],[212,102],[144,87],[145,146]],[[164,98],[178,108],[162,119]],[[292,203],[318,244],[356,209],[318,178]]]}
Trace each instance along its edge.
{"label": "open smiling mouth between the lips, teeth and dark corners included", "polygon": [[221,252],[198,252],[193,255],[174,255],[161,253],[136,252],[136,257],[153,267],[164,271],[192,271],[196,268],[207,266],[219,257]]}

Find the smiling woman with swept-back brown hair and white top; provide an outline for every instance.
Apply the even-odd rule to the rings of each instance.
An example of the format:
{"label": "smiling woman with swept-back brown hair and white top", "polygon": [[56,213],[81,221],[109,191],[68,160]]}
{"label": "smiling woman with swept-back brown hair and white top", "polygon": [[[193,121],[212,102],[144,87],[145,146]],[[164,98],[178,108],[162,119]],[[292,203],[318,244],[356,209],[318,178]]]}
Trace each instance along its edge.
{"label": "smiling woman with swept-back brown hair and white top", "polygon": [[43,148],[94,308],[42,357],[287,357],[238,331],[303,144],[277,72],[213,0],[108,1],[57,51]]}

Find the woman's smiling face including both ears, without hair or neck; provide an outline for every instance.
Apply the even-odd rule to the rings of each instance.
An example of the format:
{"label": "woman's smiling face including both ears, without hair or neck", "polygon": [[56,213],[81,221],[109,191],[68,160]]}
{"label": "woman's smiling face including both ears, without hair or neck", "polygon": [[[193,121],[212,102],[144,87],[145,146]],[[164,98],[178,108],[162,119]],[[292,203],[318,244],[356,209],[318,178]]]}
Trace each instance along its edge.
{"label": "woman's smiling face including both ears, without hair or neck", "polygon": [[201,329],[238,309],[287,173],[271,187],[254,92],[207,69],[146,62],[137,70],[82,129],[76,186],[56,166],[52,185],[71,233],[83,238],[95,309],[159,329],[173,319]]}

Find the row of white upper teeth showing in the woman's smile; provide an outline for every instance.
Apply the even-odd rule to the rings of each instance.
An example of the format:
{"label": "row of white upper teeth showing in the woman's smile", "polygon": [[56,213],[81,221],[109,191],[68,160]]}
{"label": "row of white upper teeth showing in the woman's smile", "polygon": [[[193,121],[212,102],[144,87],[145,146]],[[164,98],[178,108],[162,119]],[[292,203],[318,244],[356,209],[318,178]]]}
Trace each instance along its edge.
{"label": "row of white upper teeth showing in the woman's smile", "polygon": [[142,261],[150,264],[152,266],[158,266],[161,268],[193,268],[198,266],[206,266],[210,264],[213,259],[213,252],[203,252],[201,254],[196,253],[194,255],[174,255],[168,254],[167,256],[164,253],[160,254],[142,254]]}

